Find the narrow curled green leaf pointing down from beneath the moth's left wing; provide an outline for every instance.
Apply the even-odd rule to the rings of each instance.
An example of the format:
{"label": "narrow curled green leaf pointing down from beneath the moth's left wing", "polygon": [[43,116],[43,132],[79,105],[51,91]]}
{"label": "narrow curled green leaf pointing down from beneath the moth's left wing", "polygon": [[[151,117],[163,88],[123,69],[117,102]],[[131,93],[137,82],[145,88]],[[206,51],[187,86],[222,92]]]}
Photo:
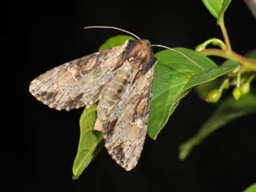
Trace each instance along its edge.
{"label": "narrow curled green leaf pointing down from beneath the moth's left wing", "polygon": [[80,139],[73,162],[73,179],[78,179],[82,171],[90,165],[95,156],[102,150],[102,133],[94,131],[96,121],[96,104],[85,109],[80,117]]}

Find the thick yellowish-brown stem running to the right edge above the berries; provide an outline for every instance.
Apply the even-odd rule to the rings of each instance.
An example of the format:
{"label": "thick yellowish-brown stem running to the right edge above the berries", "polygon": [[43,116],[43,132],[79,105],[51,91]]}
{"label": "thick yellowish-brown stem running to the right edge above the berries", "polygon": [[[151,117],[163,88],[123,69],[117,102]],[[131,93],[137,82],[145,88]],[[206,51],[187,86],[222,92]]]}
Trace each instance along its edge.
{"label": "thick yellowish-brown stem running to the right edge above the berries", "polygon": [[220,56],[226,59],[231,59],[235,62],[239,62],[246,70],[256,71],[256,62],[247,59],[232,50],[206,49],[202,50],[201,53],[205,56]]}

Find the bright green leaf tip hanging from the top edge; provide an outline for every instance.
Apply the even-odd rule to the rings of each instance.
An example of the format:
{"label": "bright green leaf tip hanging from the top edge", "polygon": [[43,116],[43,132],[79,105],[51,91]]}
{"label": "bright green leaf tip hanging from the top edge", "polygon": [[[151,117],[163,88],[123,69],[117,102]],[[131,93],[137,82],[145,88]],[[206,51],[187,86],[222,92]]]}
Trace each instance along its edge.
{"label": "bright green leaf tip hanging from the top edge", "polygon": [[223,17],[226,9],[229,7],[231,0],[203,0],[203,4],[209,10],[212,16],[214,16],[217,21]]}

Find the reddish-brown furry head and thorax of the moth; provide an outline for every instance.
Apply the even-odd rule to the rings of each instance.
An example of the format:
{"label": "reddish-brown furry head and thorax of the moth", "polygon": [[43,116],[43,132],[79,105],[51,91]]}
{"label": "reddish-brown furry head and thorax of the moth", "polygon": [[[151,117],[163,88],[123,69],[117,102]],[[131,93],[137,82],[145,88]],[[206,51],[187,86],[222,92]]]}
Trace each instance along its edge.
{"label": "reddish-brown furry head and thorax of the moth", "polygon": [[147,39],[128,40],[126,44],[125,56],[134,68],[146,72],[157,61]]}

